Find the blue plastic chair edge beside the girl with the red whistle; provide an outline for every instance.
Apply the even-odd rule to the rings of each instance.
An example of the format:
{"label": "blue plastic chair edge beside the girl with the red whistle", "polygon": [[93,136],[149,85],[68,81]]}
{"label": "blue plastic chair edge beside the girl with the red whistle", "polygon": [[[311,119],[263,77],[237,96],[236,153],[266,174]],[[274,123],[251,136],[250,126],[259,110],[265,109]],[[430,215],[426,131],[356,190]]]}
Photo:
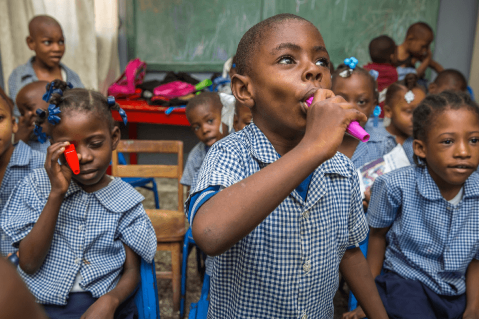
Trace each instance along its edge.
{"label": "blue plastic chair edge beside the girl with the red whistle", "polygon": [[146,262],[141,258],[140,284],[135,295],[139,319],[160,319],[158,304],[158,286],[156,285],[155,262]]}

